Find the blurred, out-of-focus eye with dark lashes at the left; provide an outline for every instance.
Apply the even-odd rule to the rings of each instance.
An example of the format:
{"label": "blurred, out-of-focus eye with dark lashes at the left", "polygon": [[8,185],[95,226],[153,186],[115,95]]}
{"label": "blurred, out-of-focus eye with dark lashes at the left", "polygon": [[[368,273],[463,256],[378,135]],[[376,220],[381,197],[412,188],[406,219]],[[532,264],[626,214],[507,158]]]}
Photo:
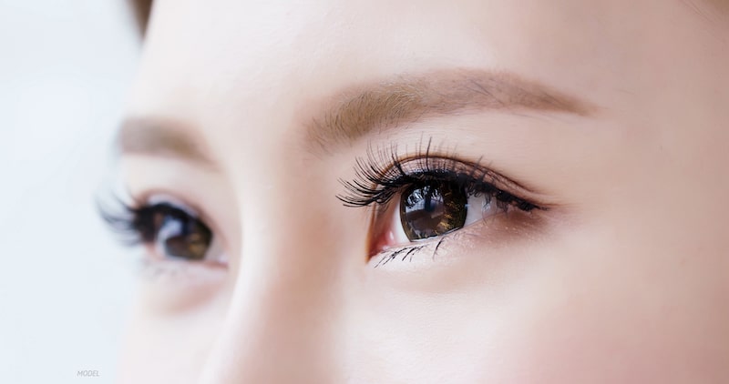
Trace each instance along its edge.
{"label": "blurred, out-of-focus eye with dark lashes at the left", "polygon": [[120,208],[101,208],[101,216],[123,243],[144,246],[146,266],[163,261],[223,264],[218,239],[190,207],[163,200],[134,205],[118,201]]}

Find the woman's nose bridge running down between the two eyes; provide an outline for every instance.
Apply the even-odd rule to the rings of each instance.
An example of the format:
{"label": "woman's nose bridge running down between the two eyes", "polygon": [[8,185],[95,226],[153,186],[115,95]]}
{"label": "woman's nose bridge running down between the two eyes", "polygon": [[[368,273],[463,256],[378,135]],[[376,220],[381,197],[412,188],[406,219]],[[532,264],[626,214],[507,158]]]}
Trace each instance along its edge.
{"label": "woman's nose bridge running down between the two eyes", "polygon": [[281,189],[259,186],[241,205],[240,267],[203,382],[337,381],[341,289],[326,217]]}

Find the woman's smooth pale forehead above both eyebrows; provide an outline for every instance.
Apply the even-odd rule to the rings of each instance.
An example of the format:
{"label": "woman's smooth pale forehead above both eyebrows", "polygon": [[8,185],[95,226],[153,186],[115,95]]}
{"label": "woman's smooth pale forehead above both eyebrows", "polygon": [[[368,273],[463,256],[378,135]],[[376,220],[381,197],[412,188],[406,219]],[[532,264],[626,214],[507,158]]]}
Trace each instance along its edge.
{"label": "woman's smooth pale forehead above both eyebrows", "polygon": [[673,76],[655,68],[687,69],[672,55],[706,48],[695,44],[705,19],[687,4],[159,0],[131,110],[293,126],[343,88],[447,67],[507,70],[628,107],[626,93]]}

